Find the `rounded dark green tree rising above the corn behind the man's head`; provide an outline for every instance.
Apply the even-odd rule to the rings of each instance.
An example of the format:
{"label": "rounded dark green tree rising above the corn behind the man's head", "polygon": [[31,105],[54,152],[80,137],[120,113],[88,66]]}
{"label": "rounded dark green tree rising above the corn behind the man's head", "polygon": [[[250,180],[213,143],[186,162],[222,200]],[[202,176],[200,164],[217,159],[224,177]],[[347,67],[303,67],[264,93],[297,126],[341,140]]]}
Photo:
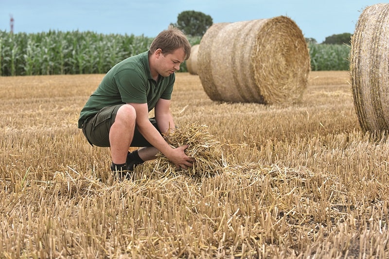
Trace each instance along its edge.
{"label": "rounded dark green tree rising above the corn behind the man's head", "polygon": [[202,12],[183,11],[178,14],[177,23],[173,25],[186,35],[203,36],[212,23],[212,17]]}

